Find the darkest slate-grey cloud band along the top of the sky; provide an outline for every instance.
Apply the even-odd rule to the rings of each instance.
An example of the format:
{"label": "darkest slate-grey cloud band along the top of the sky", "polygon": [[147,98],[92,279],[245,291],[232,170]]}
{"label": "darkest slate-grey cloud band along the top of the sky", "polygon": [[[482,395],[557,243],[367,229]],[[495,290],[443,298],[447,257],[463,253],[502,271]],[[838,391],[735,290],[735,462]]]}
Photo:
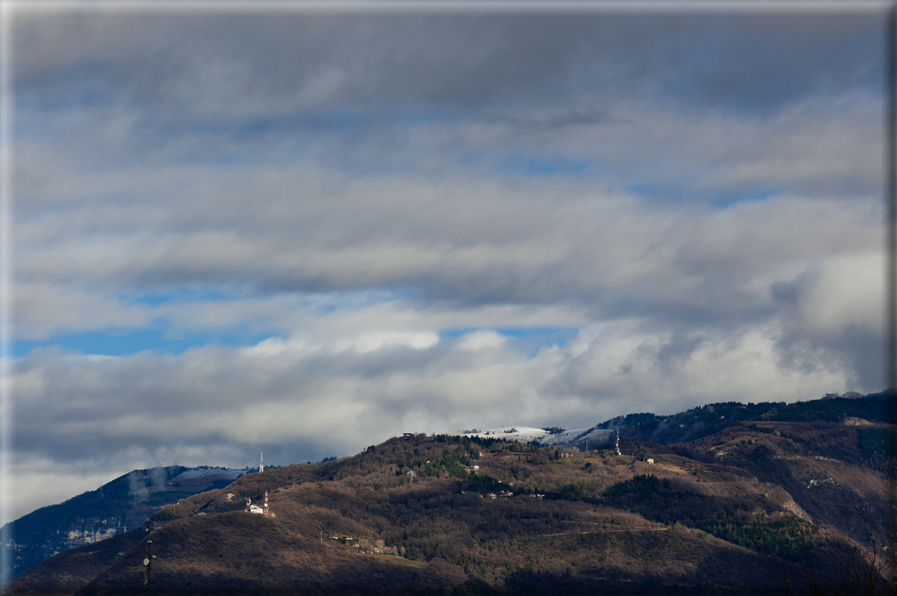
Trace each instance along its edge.
{"label": "darkest slate-grey cloud band along the top of the sky", "polygon": [[876,14],[63,13],[24,17],[16,33],[23,96],[123,101],[191,125],[324,106],[507,109],[645,94],[756,112],[882,89]]}

